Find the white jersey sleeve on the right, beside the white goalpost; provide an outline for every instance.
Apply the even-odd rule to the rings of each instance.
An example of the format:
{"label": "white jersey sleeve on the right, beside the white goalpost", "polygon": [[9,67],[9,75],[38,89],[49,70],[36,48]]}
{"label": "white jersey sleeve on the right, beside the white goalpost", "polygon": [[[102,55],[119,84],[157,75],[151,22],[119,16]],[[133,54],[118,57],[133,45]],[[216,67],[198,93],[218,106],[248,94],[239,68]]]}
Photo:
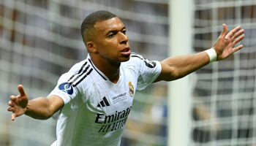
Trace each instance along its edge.
{"label": "white jersey sleeve on the right, beside the white goalpost", "polygon": [[136,68],[139,70],[137,90],[140,91],[157,79],[161,73],[162,66],[159,61],[150,61],[143,58],[142,55],[132,53],[131,57],[134,58],[137,64]]}

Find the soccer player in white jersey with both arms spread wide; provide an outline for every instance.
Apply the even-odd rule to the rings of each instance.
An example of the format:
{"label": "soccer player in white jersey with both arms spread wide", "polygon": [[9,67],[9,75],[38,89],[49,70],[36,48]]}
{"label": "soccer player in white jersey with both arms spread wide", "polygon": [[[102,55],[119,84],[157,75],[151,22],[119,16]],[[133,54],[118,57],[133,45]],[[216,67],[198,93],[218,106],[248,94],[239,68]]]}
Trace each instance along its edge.
{"label": "soccer player in white jersey with both arms spread wide", "polygon": [[[227,58],[240,50],[241,26],[223,31],[209,50],[164,61],[149,61],[131,53],[127,28],[116,15],[97,11],[83,20],[81,34],[88,56],[62,74],[48,97],[29,100],[22,85],[11,96],[12,120],[20,115],[57,120],[52,145],[120,145],[136,90],[152,82],[184,77],[200,67]],[[173,48],[175,49],[175,48]]]}

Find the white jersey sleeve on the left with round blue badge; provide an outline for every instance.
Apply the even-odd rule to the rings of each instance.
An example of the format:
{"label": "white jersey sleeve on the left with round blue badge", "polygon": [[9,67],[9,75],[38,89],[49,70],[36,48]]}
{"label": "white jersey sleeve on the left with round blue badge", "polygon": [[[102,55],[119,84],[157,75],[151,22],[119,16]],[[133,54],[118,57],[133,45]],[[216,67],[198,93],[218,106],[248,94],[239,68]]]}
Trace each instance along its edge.
{"label": "white jersey sleeve on the left with round blue badge", "polygon": [[48,96],[59,96],[63,99],[64,104],[69,103],[72,99],[78,96],[78,86],[73,86],[69,79],[72,78],[71,73],[62,74],[59,78],[58,84],[50,92]]}

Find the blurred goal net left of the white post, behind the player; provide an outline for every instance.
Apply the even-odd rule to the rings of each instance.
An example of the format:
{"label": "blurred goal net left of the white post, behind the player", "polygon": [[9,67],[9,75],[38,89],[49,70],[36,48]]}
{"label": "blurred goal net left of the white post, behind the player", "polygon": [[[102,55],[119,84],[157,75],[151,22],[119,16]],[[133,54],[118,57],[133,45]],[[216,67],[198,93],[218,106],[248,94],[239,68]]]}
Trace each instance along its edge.
{"label": "blurred goal net left of the white post, behind the player", "polygon": [[[86,58],[80,24],[100,9],[124,21],[133,52],[167,57],[167,0],[0,1],[0,145],[50,145],[56,139],[54,120],[21,116],[12,122],[7,102],[18,94],[18,84],[29,99],[48,96],[60,75]],[[121,145],[165,145],[165,96],[161,82],[135,95]]]}

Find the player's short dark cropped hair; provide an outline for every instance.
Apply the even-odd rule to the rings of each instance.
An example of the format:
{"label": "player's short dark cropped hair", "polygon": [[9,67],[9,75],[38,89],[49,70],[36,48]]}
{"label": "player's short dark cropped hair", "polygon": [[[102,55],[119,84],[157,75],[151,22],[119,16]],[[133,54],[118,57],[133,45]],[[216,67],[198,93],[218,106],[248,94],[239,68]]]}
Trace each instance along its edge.
{"label": "player's short dark cropped hair", "polygon": [[97,22],[101,22],[104,20],[109,20],[111,18],[116,18],[117,16],[114,15],[112,12],[100,10],[97,12],[93,12],[90,15],[88,15],[81,25],[81,34],[83,37],[83,42],[86,45],[86,42],[88,42],[88,32],[91,28],[94,27],[94,24]]}

